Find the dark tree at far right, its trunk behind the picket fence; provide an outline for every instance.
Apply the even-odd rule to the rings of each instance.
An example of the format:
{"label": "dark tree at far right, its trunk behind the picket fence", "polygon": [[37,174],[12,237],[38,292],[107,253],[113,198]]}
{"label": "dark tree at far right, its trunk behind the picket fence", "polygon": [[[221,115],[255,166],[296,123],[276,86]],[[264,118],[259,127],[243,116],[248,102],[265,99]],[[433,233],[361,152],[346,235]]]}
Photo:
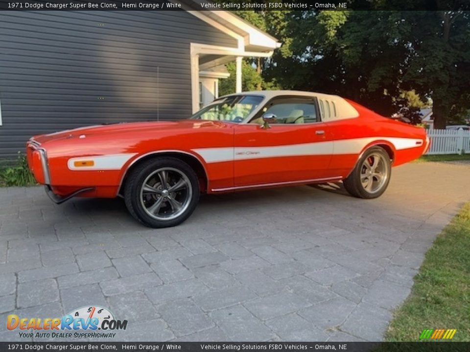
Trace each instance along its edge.
{"label": "dark tree at far right, its trunk behind the picket fence", "polygon": [[403,81],[432,98],[434,127],[470,108],[470,14],[467,11],[403,13],[409,64]]}

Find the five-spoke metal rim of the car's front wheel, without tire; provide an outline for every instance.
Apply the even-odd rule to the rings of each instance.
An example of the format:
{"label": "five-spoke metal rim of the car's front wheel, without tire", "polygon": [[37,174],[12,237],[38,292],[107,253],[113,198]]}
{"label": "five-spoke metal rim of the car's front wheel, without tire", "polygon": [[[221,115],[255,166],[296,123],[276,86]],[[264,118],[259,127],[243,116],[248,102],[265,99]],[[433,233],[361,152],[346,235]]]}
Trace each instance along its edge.
{"label": "five-spoke metal rim of the car's front wheel, without tire", "polygon": [[192,198],[187,175],[175,168],[161,168],[145,178],[140,191],[144,211],[156,220],[173,220],[186,211]]}

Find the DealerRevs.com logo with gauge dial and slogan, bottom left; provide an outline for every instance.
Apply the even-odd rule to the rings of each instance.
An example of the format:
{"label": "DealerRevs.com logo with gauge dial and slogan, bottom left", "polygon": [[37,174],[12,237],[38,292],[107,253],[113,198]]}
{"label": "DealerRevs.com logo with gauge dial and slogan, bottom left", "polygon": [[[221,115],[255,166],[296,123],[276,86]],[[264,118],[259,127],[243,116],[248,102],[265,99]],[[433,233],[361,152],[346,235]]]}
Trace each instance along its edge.
{"label": "DealerRevs.com logo with gauge dial and slogan, bottom left", "polygon": [[127,320],[116,320],[107,308],[88,306],[74,309],[61,318],[25,318],[10,314],[6,328],[20,330],[22,338],[109,338],[115,337],[115,330],[126,330]]}

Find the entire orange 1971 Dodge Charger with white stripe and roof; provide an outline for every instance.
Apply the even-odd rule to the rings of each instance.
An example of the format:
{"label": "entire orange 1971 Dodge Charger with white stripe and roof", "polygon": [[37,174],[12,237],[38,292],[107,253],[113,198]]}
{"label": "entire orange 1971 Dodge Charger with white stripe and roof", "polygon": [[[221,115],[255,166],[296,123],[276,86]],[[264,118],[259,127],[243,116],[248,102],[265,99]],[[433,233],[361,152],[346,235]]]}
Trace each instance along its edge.
{"label": "entire orange 1971 Dodge Charger with white stripe and roof", "polygon": [[352,196],[376,198],[392,165],[428,148],[423,128],[336,95],[279,90],[226,95],[188,120],[37,135],[27,159],[57,203],[122,196],[141,223],[167,227],[201,193],[342,180]]}

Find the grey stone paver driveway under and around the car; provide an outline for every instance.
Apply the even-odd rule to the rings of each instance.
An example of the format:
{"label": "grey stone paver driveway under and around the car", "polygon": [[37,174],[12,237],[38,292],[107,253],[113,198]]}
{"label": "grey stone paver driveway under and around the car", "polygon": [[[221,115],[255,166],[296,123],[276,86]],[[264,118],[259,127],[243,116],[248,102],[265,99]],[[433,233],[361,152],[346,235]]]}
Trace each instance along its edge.
{"label": "grey stone paver driveway under and around the car", "polygon": [[470,200],[470,166],[408,164],[388,191],[292,187],[202,199],[183,225],[148,229],[121,199],[57,206],[0,189],[0,340],[8,312],[101,305],[116,340],[380,340],[435,236]]}

